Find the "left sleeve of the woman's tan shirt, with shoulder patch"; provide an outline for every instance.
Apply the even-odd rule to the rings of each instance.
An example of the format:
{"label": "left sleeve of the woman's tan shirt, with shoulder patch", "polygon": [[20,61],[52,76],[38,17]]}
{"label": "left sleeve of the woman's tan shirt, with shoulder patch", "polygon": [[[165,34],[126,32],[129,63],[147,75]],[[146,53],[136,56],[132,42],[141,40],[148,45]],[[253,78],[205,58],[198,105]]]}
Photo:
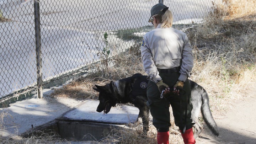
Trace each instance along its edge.
{"label": "left sleeve of the woman's tan shirt, with shoulder patch", "polygon": [[141,44],[142,62],[145,73],[149,76],[149,79],[157,83],[162,78],[159,76],[159,72],[153,61],[152,53],[148,47],[148,39],[144,36]]}

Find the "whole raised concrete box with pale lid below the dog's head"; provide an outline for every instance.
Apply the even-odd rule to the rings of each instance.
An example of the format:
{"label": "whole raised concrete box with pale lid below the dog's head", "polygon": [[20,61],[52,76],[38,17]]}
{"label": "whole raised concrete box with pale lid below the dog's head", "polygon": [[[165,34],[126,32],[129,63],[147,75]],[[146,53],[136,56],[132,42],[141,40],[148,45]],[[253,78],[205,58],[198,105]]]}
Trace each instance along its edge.
{"label": "whole raised concrete box with pale lid below the dog's head", "polygon": [[138,119],[136,107],[112,107],[109,113],[103,114],[96,111],[99,103],[98,100],[86,100],[56,119],[59,135],[65,139],[100,140],[111,133],[112,128],[123,128],[124,124]]}

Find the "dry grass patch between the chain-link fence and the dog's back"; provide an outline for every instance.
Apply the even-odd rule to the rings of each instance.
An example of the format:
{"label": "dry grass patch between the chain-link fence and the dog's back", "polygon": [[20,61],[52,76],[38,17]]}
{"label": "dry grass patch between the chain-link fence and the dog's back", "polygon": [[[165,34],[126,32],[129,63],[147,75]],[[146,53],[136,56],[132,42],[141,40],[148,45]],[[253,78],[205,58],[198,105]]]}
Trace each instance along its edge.
{"label": "dry grass patch between the chain-link fence and the dog's back", "polygon": [[52,96],[71,97],[82,99],[97,99],[97,92],[92,88],[94,85],[105,85],[111,80],[123,79],[135,73],[145,74],[140,59],[139,45],[135,44],[127,52],[115,55],[112,58],[112,67],[104,71],[88,74],[80,77],[62,89],[56,89]]}

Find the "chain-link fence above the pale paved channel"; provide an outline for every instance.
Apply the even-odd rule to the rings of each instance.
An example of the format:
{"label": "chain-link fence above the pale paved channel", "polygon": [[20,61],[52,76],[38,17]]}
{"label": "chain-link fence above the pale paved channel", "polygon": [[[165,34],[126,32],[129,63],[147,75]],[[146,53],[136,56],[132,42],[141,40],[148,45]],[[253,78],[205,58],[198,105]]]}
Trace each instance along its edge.
{"label": "chain-link fence above the pale paved channel", "polygon": [[[153,29],[148,19],[158,2],[0,0],[0,102],[38,90],[40,73],[44,88],[61,85],[92,70],[103,52],[118,53],[139,43]],[[211,10],[212,1],[165,0],[164,4],[177,25],[200,22]],[[35,22],[40,22],[38,33]],[[40,73],[37,58],[42,60]],[[56,84],[59,79],[62,83]]]}

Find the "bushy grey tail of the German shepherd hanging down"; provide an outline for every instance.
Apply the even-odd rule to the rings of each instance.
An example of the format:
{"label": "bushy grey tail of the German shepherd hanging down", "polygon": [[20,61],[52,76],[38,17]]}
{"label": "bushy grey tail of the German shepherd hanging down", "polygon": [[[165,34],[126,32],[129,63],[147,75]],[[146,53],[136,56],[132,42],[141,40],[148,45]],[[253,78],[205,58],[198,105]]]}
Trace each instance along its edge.
{"label": "bushy grey tail of the German shepherd hanging down", "polygon": [[209,129],[216,135],[219,135],[219,130],[217,127],[216,122],[214,121],[212,117],[212,113],[210,111],[209,107],[209,97],[207,94],[207,91],[203,89],[204,92],[202,92],[202,106],[201,106],[201,112],[204,118],[204,121],[206,122]]}

